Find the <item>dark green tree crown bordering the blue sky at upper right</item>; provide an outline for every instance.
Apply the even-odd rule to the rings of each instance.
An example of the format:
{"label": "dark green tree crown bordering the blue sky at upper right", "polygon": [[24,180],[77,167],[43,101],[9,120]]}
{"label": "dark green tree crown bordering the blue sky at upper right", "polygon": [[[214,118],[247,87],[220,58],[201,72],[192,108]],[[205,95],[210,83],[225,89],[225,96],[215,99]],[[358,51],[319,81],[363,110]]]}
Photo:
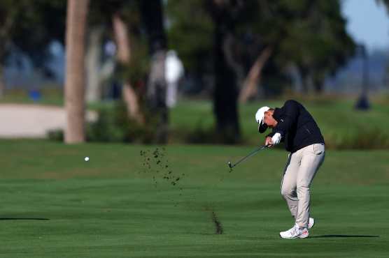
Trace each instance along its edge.
{"label": "dark green tree crown bordering the blue sky at upper right", "polygon": [[287,34],[280,50],[281,58],[294,61],[303,77],[309,74],[320,92],[325,77],[344,66],[356,46],[346,32],[339,1],[310,2],[302,16],[286,24]]}

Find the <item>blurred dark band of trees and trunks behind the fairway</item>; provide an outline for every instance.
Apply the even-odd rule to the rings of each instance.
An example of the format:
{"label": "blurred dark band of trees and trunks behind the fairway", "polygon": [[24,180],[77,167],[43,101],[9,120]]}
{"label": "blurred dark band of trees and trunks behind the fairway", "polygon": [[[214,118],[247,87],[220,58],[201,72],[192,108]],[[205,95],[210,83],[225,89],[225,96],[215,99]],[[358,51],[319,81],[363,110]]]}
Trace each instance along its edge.
{"label": "blurred dark band of trees and trunks behind the fairway", "polygon": [[[177,50],[185,76],[211,85],[206,92],[220,142],[235,143],[241,138],[239,103],[291,87],[291,71],[302,79],[304,93],[320,93],[356,45],[338,0],[5,0],[0,92],[1,67],[12,50],[43,66],[52,40],[66,45],[66,142],[85,140],[85,98],[101,98],[99,82],[109,64],[122,85],[129,125],[150,132],[148,142],[164,143],[164,57],[169,48]],[[113,59],[101,53],[108,40],[115,42]]]}

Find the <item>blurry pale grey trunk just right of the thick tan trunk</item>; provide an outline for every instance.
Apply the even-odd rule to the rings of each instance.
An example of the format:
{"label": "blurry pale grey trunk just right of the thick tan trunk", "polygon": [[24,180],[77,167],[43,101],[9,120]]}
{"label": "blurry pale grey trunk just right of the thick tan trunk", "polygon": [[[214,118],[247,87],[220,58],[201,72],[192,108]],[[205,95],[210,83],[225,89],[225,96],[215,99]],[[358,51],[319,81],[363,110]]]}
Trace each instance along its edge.
{"label": "blurry pale grey trunk just right of the thick tan trunk", "polygon": [[95,26],[90,29],[87,40],[86,70],[87,70],[87,102],[101,100],[101,45],[103,43],[104,28]]}

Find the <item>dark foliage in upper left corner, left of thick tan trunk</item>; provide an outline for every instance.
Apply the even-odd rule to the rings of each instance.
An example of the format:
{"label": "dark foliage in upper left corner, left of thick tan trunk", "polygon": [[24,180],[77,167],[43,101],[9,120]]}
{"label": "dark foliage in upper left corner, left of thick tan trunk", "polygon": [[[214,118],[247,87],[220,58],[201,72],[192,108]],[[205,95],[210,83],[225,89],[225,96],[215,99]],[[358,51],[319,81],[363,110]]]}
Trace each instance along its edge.
{"label": "dark foliage in upper left corner, left of thick tan trunk", "polygon": [[64,42],[65,22],[65,0],[0,1],[0,62],[13,45],[41,66],[48,44]]}

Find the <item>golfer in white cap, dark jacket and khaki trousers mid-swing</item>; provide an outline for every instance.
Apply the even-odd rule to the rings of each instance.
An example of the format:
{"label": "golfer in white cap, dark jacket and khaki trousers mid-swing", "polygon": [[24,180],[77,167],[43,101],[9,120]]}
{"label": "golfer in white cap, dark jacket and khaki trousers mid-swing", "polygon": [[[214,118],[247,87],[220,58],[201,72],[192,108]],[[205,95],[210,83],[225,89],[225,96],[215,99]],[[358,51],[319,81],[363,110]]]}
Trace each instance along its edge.
{"label": "golfer in white cap, dark jacket and khaki trousers mid-swing", "polygon": [[323,135],[305,107],[288,100],[281,108],[261,107],[255,114],[258,131],[271,128],[265,145],[285,142],[288,162],[281,181],[281,195],[288,204],[295,225],[280,232],[282,238],[306,238],[315,220],[309,216],[309,188],[325,157]]}

